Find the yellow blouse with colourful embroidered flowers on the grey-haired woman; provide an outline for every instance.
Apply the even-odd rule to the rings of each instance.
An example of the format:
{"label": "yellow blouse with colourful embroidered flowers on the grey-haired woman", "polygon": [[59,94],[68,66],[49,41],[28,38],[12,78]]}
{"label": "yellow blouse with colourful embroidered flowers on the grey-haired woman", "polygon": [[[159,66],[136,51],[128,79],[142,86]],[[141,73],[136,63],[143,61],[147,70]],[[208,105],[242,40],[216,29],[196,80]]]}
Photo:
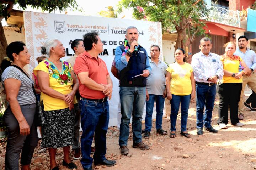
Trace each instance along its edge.
{"label": "yellow blouse with colourful embroidered flowers on the grey-haired woman", "polygon": [[[72,91],[73,79],[71,77],[71,71],[73,69],[68,62],[62,61],[62,70],[58,70],[52,62],[46,59],[34,68],[34,74],[37,75],[37,71],[39,70],[49,74],[50,88],[65,95]],[[64,100],[48,96],[43,92],[41,92],[40,101],[43,101],[45,111],[65,109],[69,107]],[[74,104],[77,103],[75,97],[73,102]]]}

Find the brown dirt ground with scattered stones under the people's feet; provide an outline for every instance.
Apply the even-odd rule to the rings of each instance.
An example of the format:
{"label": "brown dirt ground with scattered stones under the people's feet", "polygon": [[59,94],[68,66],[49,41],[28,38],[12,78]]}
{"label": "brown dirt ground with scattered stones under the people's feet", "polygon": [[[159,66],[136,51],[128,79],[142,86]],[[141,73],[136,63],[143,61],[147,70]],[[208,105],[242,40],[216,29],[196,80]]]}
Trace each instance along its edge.
{"label": "brown dirt ground with scattered stones under the people's feet", "polygon": [[[247,89],[248,90],[248,89]],[[249,92],[244,98],[249,96]],[[170,138],[170,102],[166,101],[167,117],[163,119],[162,128],[168,135],[156,135],[155,121],[151,137],[144,140],[150,146],[150,150],[141,151],[132,148],[132,134],[130,133],[128,149],[130,153],[122,156],[119,151],[119,130],[111,127],[107,134],[107,159],[114,159],[117,164],[113,167],[96,166],[102,170],[252,170],[256,169],[256,112],[245,111],[245,119],[241,122],[243,127],[228,124],[228,129],[221,130],[217,125],[218,119],[218,95],[215,100],[212,125],[219,130],[213,134],[204,131],[203,137],[196,134],[196,104],[191,103],[187,128],[191,138],[179,135],[180,113],[177,118],[177,137]],[[145,124],[143,123],[143,129]],[[40,144],[38,144],[39,146]],[[6,142],[0,143],[0,170],[4,169],[4,154]],[[71,155],[71,154],[70,154]],[[57,150],[57,164],[60,170],[63,168],[62,149]],[[82,170],[79,160],[74,160],[78,170]],[[47,149],[36,148],[31,163],[32,170],[49,169],[49,154]]]}

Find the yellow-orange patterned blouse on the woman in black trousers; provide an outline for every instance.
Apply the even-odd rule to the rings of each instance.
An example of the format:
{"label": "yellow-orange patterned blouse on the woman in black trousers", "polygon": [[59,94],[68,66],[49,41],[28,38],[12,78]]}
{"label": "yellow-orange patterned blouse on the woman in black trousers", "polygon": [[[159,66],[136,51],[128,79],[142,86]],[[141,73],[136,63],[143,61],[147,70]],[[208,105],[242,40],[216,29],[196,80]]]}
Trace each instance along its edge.
{"label": "yellow-orange patterned blouse on the woman in black trousers", "polygon": [[[239,65],[242,62],[242,58],[239,56],[235,56],[234,58],[229,58],[228,56],[222,55],[220,56],[220,61],[223,62],[223,69],[229,72],[238,73]],[[242,83],[242,77],[240,79],[236,79],[232,76],[223,76],[223,83]]]}

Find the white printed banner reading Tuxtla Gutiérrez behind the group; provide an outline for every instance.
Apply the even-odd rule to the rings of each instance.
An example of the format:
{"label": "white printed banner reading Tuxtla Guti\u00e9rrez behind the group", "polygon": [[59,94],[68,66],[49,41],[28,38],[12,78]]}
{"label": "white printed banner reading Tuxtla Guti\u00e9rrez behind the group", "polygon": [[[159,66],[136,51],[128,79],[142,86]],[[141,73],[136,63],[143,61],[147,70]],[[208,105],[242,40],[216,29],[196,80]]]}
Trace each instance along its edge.
{"label": "white printed banner reading Tuxtla Guti\u00e9rrez behind the group", "polygon": [[[162,29],[160,22],[148,22],[138,20],[127,20],[118,18],[92,17],[63,15],[53,13],[27,12],[24,15],[26,46],[31,53],[29,72],[32,74],[33,68],[37,66],[36,58],[41,55],[41,46],[47,39],[59,39],[66,48],[66,56],[62,60],[67,60],[74,55],[70,45],[74,39],[83,39],[87,32],[97,31],[104,44],[104,51],[100,57],[106,62],[110,72],[114,59],[114,51],[117,46],[123,45],[126,28],[135,26],[139,31],[139,44],[146,49],[150,56],[150,46],[156,44],[160,46],[162,54]],[[162,56],[160,56],[162,58]],[[119,81],[113,80],[113,94],[109,101],[110,123],[109,126],[117,125],[117,106],[119,102]],[[164,112],[165,113],[165,112]],[[154,107],[153,118],[156,112]],[[145,113],[143,115],[145,119]]]}

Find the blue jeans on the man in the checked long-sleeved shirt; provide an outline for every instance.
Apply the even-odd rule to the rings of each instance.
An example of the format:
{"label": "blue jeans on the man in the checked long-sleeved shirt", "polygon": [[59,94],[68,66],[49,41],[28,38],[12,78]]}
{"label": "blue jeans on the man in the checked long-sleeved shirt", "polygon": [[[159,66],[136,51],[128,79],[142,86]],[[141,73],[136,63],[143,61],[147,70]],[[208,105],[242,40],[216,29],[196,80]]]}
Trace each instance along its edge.
{"label": "blue jeans on the man in the checked long-sleeved shirt", "polygon": [[[197,128],[211,126],[212,110],[216,96],[216,85],[196,84],[197,92]],[[204,106],[206,107],[204,112]]]}

